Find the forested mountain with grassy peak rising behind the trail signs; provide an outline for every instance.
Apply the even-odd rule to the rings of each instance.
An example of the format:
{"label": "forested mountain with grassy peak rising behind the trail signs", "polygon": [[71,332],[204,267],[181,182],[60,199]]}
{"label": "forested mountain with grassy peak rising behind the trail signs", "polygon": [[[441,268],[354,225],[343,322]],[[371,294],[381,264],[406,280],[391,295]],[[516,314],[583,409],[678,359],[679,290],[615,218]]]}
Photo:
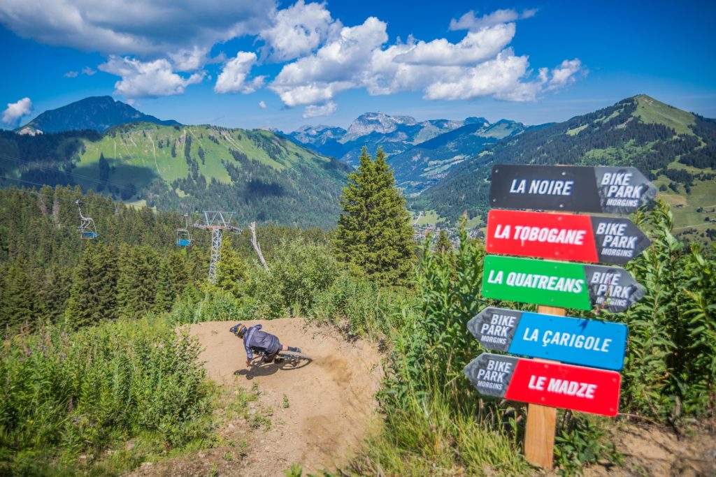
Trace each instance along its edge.
{"label": "forested mountain with grassy peak rising behind the trail signs", "polygon": [[[705,226],[716,205],[716,121],[646,95],[509,137],[465,160],[412,204],[450,221],[486,217],[490,170],[499,164],[633,165],[675,206],[677,227]],[[714,217],[716,220],[716,216]]]}

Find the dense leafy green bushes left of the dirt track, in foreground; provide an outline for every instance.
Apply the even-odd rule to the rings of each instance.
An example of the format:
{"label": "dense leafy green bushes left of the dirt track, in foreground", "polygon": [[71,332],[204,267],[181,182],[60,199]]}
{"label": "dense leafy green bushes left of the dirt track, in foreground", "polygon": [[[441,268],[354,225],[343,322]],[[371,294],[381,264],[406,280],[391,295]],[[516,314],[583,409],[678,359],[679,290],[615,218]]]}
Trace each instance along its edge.
{"label": "dense leafy green bushes left of the dirt track, in foreground", "polygon": [[[164,320],[21,333],[0,351],[0,473],[87,465],[142,436],[163,451],[211,432],[199,346]],[[29,466],[29,467],[28,467]]]}

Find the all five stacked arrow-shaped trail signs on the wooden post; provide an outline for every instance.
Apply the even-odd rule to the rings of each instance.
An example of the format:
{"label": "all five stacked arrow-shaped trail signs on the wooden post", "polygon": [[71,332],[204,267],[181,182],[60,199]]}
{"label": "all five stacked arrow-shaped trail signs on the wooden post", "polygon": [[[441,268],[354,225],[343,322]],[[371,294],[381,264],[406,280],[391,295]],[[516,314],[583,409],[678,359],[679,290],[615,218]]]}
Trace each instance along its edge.
{"label": "all five stacked arrow-shaped trail signs on the wooden post", "polygon": [[[483,297],[627,310],[644,288],[614,265],[637,257],[649,239],[625,217],[562,212],[628,214],[655,195],[633,167],[495,165],[485,244],[495,255],[485,257]],[[468,329],[488,350],[558,361],[483,353],[465,366],[480,393],[586,413],[618,412],[626,325],[490,307]]]}

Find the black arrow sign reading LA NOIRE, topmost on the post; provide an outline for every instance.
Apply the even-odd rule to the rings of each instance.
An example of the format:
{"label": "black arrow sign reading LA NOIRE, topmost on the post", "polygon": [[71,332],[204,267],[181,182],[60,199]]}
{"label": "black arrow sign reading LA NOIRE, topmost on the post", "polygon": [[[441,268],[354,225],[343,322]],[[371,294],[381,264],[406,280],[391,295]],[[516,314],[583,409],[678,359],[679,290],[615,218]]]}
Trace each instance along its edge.
{"label": "black arrow sign reading LA NOIRE, topmost on the post", "polygon": [[490,185],[490,205],[499,209],[630,214],[655,195],[634,167],[496,164]]}

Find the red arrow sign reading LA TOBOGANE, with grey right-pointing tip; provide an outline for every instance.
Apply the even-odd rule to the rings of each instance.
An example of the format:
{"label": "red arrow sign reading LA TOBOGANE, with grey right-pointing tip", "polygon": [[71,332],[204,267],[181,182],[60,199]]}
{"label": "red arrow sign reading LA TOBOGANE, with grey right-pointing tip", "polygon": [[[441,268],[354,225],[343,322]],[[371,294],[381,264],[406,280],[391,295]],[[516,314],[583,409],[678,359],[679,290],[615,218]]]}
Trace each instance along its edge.
{"label": "red arrow sign reading LA TOBOGANE, with grey right-pointing tip", "polygon": [[500,255],[623,265],[647,250],[646,235],[623,217],[490,210],[487,250]]}

